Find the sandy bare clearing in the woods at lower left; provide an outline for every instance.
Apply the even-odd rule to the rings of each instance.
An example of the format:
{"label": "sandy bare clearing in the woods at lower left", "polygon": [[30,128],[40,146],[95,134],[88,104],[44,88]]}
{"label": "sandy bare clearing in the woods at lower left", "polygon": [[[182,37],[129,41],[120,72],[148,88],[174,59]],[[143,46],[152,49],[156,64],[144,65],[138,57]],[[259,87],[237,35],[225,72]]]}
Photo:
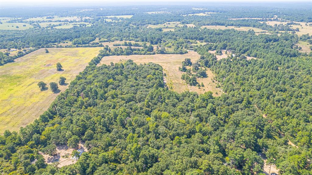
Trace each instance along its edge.
{"label": "sandy bare clearing in the woods at lower left", "polygon": [[[84,147],[82,143],[78,145],[78,148],[83,150],[83,152],[87,152],[88,149]],[[72,157],[71,153],[74,149],[68,148],[67,145],[57,146],[56,147],[56,154],[53,156],[49,156],[40,152],[40,154],[45,159],[46,163],[52,164],[57,163],[57,167],[61,168],[66,165],[71,165],[76,163],[76,159]]]}

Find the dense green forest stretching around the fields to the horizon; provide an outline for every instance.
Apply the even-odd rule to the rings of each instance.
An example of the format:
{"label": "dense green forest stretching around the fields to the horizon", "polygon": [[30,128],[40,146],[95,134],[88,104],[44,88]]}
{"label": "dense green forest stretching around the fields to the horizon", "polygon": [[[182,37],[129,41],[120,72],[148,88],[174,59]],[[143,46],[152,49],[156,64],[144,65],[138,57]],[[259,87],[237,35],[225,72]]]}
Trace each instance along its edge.
{"label": "dense green forest stretching around the fields to the horizon", "polygon": [[[84,22],[91,26],[0,30],[0,49],[19,50],[16,56],[0,52],[1,65],[61,42],[71,45],[57,47],[101,50],[38,119],[18,132],[6,130],[0,135],[0,173],[264,175],[265,157],[279,174],[311,175],[312,52],[300,52],[297,44],[311,44],[312,37],[287,32],[294,31],[290,28],[293,21],[311,22],[311,9],[296,5],[246,9],[213,3],[194,7],[206,9],[184,5],[97,7],[78,12],[77,7],[34,8],[36,12],[32,8],[4,9],[6,17],[22,18],[12,22],[37,14],[76,15],[90,17]],[[146,13],[152,11],[166,13]],[[203,12],[214,13],[188,15]],[[105,17],[111,15],[133,17]],[[270,26],[259,19],[229,20],[246,17],[260,21],[283,18],[290,23]],[[165,32],[146,27],[173,21],[183,26]],[[202,25],[256,27],[271,35]],[[114,48],[102,44],[116,40],[124,43]],[[194,45],[199,41],[203,44]],[[186,54],[190,50],[200,54],[200,59],[181,63],[181,79],[191,86],[203,86],[196,78],[207,77],[210,69],[224,92],[219,97],[212,92],[170,90],[163,80],[163,68],[153,61],[98,65],[111,55]],[[209,52],[212,50],[216,54]],[[231,54],[217,59],[222,50]],[[76,149],[79,142],[88,151],[77,156],[75,164],[58,168],[57,163],[45,162],[42,153],[53,155],[60,145]]]}

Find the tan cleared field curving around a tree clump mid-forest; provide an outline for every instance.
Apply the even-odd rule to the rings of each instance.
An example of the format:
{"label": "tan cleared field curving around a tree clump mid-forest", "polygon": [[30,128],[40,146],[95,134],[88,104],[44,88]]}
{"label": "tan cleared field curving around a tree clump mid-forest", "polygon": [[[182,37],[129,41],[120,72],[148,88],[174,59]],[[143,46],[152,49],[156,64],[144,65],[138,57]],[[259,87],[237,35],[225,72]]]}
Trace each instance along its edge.
{"label": "tan cleared field curving around a tree clump mid-forest", "polygon": [[[203,83],[205,87],[198,89],[196,86],[187,85],[182,79],[181,76],[183,72],[179,71],[179,66],[182,66],[182,61],[186,58],[190,58],[192,62],[195,62],[200,57],[197,52],[189,51],[187,54],[155,54],[155,55],[128,55],[128,56],[108,56],[104,57],[100,64],[110,64],[110,62],[117,63],[121,61],[126,61],[132,59],[137,64],[144,64],[153,62],[159,64],[163,67],[166,84],[169,88],[173,89],[176,92],[183,92],[186,90],[204,93],[207,91],[212,91],[214,95],[221,95],[222,91],[219,88],[216,88],[216,83],[212,82],[214,77],[210,69],[207,70],[207,78],[197,78],[198,83]],[[99,64],[99,65],[100,65]],[[216,92],[218,94],[216,94]]]}

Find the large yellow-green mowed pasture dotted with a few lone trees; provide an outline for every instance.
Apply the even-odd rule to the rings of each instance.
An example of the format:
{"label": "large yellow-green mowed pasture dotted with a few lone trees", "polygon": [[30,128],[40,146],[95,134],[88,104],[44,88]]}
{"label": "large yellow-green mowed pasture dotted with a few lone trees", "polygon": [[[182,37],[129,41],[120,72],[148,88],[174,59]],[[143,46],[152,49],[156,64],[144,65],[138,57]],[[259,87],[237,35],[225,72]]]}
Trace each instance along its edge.
{"label": "large yellow-green mowed pasture dotted with a few lone trees", "polygon": [[[15,62],[0,67],[0,133],[18,130],[38,118],[50,106],[58,93],[53,93],[50,82],[58,83],[60,76],[70,83],[85,69],[100,48],[48,48],[33,51]],[[63,71],[56,71],[56,63]],[[37,83],[43,81],[48,89],[41,91]],[[61,92],[68,87],[58,85]]]}

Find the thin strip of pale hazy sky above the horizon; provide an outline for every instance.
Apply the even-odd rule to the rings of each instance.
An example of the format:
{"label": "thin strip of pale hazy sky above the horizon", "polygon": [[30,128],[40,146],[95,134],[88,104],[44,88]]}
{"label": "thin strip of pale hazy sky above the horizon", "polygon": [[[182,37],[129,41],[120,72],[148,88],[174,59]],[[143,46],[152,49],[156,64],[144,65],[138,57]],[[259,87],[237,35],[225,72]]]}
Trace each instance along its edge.
{"label": "thin strip of pale hazy sky above the horizon", "polygon": [[[298,2],[298,0],[195,0],[197,2]],[[312,0],[299,0],[300,2],[311,2]],[[144,5],[144,4],[161,4],[161,3],[174,3],[174,2],[192,2],[190,0],[0,0],[0,9],[2,7],[13,6],[91,6],[91,5]]]}

